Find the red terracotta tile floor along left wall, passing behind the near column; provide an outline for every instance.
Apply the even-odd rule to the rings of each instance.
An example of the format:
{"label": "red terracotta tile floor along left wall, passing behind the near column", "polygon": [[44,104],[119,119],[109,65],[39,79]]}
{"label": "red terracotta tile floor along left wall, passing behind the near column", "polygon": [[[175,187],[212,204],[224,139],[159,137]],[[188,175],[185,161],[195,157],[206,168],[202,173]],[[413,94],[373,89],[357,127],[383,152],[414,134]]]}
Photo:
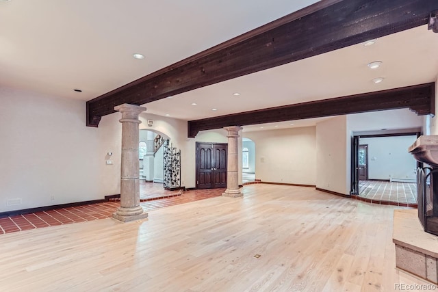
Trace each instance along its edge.
{"label": "red terracotta tile floor along left wall, passing behind the near column", "polygon": [[[149,190],[153,191],[153,189],[154,187],[151,186]],[[225,189],[196,189],[193,191],[181,191],[181,195],[179,196],[175,196],[175,191],[171,191],[172,197],[140,202],[140,205],[146,212],[148,212],[176,204],[214,198],[220,196],[224,190]],[[157,195],[156,192],[154,194]],[[160,195],[162,194],[164,194],[164,190],[162,193],[160,193]],[[150,198],[153,198],[153,196]],[[3,217],[0,218],[0,235],[47,226],[110,218],[112,217],[112,213],[114,213],[118,207],[120,207],[120,202],[103,202]]]}

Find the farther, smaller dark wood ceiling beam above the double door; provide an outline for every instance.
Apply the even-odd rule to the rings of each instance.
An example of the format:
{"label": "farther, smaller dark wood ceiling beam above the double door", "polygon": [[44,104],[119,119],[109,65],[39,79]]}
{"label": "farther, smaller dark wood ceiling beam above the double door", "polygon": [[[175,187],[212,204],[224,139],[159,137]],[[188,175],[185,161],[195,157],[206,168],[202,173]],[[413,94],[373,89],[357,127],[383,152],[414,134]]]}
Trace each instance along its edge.
{"label": "farther, smaller dark wood ceiling beam above the double door", "polygon": [[248,126],[250,124],[403,108],[409,108],[419,115],[435,114],[435,83],[271,107],[202,120],[191,120],[188,122],[188,137],[195,137],[198,131],[221,129],[228,126]]}

